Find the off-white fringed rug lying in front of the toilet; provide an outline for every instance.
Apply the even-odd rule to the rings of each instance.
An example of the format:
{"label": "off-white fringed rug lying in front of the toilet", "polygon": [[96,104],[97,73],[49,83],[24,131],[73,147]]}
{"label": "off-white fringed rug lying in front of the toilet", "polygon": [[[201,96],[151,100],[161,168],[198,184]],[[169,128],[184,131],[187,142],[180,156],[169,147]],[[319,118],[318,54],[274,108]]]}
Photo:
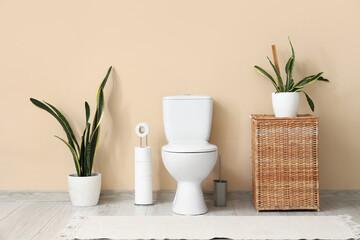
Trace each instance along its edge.
{"label": "off-white fringed rug lying in front of the toilet", "polygon": [[60,239],[359,239],[350,216],[96,216],[69,222]]}

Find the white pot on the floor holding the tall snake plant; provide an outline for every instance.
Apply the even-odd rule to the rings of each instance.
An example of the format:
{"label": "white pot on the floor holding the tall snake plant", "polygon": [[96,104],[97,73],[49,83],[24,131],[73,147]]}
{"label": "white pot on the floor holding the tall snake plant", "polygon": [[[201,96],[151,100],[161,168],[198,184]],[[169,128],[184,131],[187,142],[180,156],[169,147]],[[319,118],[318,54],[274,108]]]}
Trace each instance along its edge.
{"label": "white pot on the floor holding the tall snake plant", "polygon": [[68,176],[71,203],[78,207],[95,206],[99,202],[101,190],[101,173],[93,173],[89,177]]}

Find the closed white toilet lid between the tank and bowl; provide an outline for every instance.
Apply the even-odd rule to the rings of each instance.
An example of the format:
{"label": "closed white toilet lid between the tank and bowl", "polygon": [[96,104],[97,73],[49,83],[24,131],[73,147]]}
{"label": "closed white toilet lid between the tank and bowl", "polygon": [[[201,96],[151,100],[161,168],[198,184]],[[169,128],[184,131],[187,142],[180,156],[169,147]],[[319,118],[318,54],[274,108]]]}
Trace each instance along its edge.
{"label": "closed white toilet lid between the tank and bowl", "polygon": [[202,153],[213,152],[217,150],[215,145],[208,142],[181,142],[169,143],[162,147],[165,152],[183,152],[183,153]]}

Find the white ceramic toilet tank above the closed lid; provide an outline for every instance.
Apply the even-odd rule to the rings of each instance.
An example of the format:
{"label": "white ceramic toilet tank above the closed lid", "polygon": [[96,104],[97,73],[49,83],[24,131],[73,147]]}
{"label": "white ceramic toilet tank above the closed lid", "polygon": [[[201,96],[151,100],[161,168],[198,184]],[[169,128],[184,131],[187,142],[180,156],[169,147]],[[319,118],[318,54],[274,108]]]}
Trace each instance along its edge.
{"label": "white ceramic toilet tank above the closed lid", "polygon": [[163,97],[163,119],[168,142],[208,141],[213,99],[210,96]]}

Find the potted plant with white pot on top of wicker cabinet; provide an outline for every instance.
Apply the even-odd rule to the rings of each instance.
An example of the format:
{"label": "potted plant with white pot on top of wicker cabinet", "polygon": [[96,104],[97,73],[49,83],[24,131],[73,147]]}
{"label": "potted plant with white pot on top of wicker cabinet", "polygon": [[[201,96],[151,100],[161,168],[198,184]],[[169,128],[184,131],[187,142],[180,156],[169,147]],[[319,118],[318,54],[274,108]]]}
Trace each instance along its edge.
{"label": "potted plant with white pot on top of wicker cabinet", "polygon": [[311,75],[308,77],[303,78],[299,82],[295,83],[293,79],[293,72],[295,66],[295,51],[293,45],[289,38],[289,43],[291,46],[292,55],[290,56],[289,60],[285,65],[285,73],[286,73],[286,80],[285,82],[281,78],[280,69],[277,63],[277,56],[276,56],[276,48],[273,45],[273,54],[274,54],[274,61],[275,65],[272,63],[269,57],[269,63],[271,67],[274,69],[277,81],[264,69],[259,66],[254,66],[255,70],[259,72],[261,75],[270,79],[272,84],[275,87],[275,92],[272,93],[272,104],[273,110],[276,117],[296,117],[298,108],[299,108],[299,93],[302,92],[305,94],[307,103],[312,111],[314,111],[315,106],[314,102],[311,100],[309,95],[304,92],[302,89],[315,82],[315,81],[324,81],[329,82],[329,80],[322,77],[323,72],[320,72],[316,75]]}

